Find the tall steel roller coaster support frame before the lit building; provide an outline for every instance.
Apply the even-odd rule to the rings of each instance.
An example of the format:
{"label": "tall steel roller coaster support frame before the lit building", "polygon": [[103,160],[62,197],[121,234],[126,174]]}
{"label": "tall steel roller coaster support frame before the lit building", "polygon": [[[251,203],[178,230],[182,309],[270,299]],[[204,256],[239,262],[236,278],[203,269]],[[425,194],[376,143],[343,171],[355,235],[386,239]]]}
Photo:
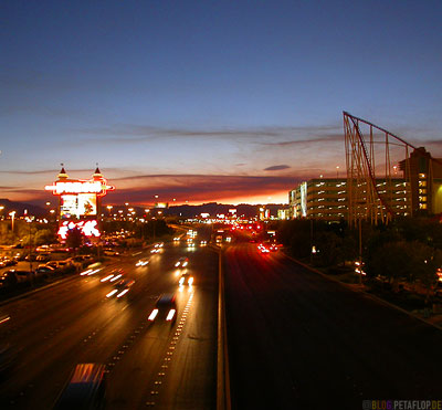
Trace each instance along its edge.
{"label": "tall steel roller coaster support frame before the lit building", "polygon": [[[410,183],[410,148],[414,146],[377,125],[343,112],[347,166],[348,223],[356,227],[360,220],[372,224],[388,223],[394,215],[392,179],[397,178],[399,158],[404,171],[403,188],[408,213],[412,213]],[[366,132],[365,136],[361,128]],[[394,153],[392,153],[392,149]],[[379,164],[376,162],[378,160]],[[404,169],[403,169],[404,168]]]}

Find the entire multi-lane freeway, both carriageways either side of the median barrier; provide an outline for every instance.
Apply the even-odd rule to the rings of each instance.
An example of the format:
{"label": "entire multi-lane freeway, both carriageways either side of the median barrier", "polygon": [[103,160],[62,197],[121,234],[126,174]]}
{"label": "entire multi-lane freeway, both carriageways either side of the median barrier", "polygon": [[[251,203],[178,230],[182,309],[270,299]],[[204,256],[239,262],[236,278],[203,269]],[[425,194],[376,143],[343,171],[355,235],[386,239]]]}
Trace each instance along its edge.
{"label": "entire multi-lane freeway, both carriageways either side of the median barrier", "polygon": [[[439,329],[244,238],[222,255],[233,409],[442,398]],[[145,256],[149,264],[135,266]],[[107,409],[214,409],[218,262],[211,246],[167,243],[3,303],[0,341],[18,356],[0,381],[1,408],[51,408],[76,364],[99,362]],[[102,282],[115,267],[135,281],[119,299]],[[183,270],[193,286],[178,286]],[[164,293],[176,293],[178,318],[151,324]]]}

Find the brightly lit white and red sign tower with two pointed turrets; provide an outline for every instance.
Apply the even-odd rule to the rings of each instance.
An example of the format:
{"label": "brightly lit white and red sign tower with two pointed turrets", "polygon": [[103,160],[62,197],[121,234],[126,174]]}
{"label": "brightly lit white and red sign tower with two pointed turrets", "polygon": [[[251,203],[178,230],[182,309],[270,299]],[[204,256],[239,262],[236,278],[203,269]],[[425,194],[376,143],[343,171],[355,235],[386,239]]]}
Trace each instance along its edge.
{"label": "brightly lit white and red sign tower with two pointed turrets", "polygon": [[99,236],[101,199],[115,187],[108,186],[98,167],[92,179],[70,179],[64,167],[59,180],[45,190],[59,196],[59,235],[65,239],[70,229],[78,228],[86,236]]}

